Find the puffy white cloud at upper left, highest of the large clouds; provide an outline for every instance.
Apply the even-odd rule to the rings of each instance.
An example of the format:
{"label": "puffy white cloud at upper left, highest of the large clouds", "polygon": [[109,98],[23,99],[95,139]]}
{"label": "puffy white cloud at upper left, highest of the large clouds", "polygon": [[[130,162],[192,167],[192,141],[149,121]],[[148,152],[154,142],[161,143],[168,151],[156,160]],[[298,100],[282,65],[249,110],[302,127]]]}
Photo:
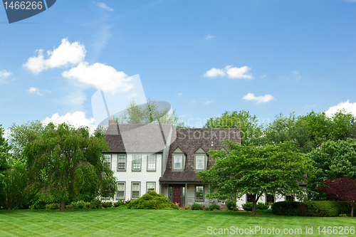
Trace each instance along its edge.
{"label": "puffy white cloud at upper left, highest of the large clouds", "polygon": [[23,67],[31,70],[32,73],[38,74],[48,68],[61,68],[69,65],[77,65],[85,58],[85,47],[79,42],[70,43],[67,38],[62,39],[62,43],[53,51],[47,51],[48,58],[43,56],[43,50],[36,51],[38,56],[28,58]]}

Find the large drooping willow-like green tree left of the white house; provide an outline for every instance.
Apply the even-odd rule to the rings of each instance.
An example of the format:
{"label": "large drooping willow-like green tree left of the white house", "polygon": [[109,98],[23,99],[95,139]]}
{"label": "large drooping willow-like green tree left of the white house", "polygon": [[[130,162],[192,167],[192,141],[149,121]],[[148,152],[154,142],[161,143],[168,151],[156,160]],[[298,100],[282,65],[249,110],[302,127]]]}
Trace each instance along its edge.
{"label": "large drooping willow-like green tree left of the white house", "polygon": [[108,151],[103,137],[89,135],[88,127],[48,124],[41,134],[25,145],[29,189],[35,189],[45,200],[66,201],[85,190],[95,196],[115,194],[115,177],[104,164]]}

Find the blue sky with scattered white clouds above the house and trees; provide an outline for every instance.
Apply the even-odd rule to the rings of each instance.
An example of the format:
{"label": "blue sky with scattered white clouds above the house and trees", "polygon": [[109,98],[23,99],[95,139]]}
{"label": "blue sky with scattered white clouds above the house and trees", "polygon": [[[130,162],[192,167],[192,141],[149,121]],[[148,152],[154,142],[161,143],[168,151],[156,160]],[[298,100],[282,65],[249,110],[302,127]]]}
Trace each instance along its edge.
{"label": "blue sky with scattered white clouds above the house and trees", "polygon": [[9,23],[0,7],[0,125],[93,129],[95,92],[127,95],[133,75],[192,127],[234,110],[265,125],[356,115],[355,12],[342,0],[58,0]]}

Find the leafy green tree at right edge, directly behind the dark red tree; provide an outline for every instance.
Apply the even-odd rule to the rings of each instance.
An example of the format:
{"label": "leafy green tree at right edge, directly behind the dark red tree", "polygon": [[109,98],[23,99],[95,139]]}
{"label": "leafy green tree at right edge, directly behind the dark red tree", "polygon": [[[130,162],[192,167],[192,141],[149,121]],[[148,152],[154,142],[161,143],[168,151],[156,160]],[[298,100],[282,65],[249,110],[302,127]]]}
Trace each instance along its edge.
{"label": "leafy green tree at right edge, directly behind the dark red tree", "polygon": [[337,142],[328,141],[320,148],[314,149],[308,154],[313,160],[316,168],[315,174],[308,182],[308,187],[312,191],[310,197],[313,199],[325,200],[326,195],[319,194],[319,180],[350,177],[356,179],[356,139],[339,140]]}

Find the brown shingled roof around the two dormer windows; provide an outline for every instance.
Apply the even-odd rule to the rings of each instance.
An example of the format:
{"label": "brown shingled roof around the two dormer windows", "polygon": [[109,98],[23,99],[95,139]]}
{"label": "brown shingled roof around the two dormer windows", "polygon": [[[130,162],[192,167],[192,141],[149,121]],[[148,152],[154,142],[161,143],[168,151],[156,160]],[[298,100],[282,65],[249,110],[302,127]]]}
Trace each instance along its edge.
{"label": "brown shingled roof around the two dormer windows", "polygon": [[[241,129],[239,128],[212,128],[212,129],[177,129],[177,139],[170,145],[167,167],[159,181],[199,181],[194,171],[194,152],[201,147],[204,152],[221,149],[224,140],[241,142]],[[172,152],[179,147],[186,155],[186,162],[182,172],[172,171]],[[208,159],[207,168],[214,165]]]}

